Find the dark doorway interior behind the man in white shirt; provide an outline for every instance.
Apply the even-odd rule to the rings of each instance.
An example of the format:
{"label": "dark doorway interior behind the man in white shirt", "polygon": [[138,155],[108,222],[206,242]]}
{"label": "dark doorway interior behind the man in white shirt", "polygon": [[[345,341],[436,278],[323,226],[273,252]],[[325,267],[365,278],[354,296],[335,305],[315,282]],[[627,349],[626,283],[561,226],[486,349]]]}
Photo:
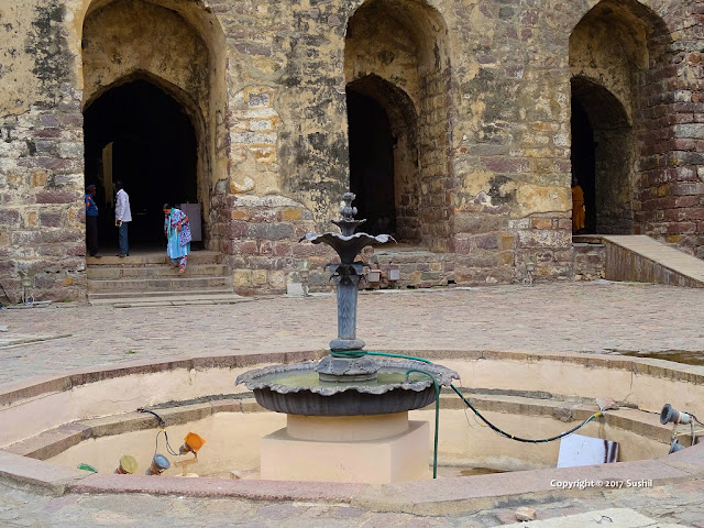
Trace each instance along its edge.
{"label": "dark doorway interior behind the man in white shirt", "polygon": [[130,246],[164,246],[163,204],[198,201],[196,133],[183,107],[153,84],[134,80],[90,105],[84,131],[86,185],[98,186],[101,246],[117,244],[110,188],[117,180],[130,195]]}

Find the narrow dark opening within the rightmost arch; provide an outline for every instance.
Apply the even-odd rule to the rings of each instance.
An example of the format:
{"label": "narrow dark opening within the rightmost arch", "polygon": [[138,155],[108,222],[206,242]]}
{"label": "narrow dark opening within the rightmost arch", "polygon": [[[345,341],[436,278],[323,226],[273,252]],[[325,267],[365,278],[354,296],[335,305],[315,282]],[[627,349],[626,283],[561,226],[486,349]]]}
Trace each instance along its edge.
{"label": "narrow dark opening within the rightmost arch", "polygon": [[584,231],[596,233],[596,145],[586,110],[572,98],[572,175],[584,191]]}

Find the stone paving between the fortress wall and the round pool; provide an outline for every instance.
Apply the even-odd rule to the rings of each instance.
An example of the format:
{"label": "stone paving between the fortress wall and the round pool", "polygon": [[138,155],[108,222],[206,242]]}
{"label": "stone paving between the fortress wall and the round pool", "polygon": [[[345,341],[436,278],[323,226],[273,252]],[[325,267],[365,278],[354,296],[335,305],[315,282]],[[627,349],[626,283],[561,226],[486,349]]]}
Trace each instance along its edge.
{"label": "stone paving between the fortress wall and the round pool", "polygon": [[[693,316],[704,306],[701,289],[564,283],[365,293],[359,305],[358,334],[370,350],[704,352],[704,327]],[[3,337],[72,334],[0,348],[0,384],[138,359],[324,349],[337,333],[336,310],[332,296],[0,310]]]}

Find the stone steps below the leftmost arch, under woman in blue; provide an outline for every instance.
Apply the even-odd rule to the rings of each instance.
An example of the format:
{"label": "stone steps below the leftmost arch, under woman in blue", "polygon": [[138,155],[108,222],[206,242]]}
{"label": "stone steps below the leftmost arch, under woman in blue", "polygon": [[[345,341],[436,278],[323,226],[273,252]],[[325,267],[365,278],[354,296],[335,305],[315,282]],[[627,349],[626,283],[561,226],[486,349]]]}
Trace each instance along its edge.
{"label": "stone steps below the leftmost arch, under woman in blue", "polygon": [[223,255],[196,251],[188,255],[186,273],[169,267],[165,252],[86,258],[90,304],[132,301],[220,300],[233,294],[232,275]]}

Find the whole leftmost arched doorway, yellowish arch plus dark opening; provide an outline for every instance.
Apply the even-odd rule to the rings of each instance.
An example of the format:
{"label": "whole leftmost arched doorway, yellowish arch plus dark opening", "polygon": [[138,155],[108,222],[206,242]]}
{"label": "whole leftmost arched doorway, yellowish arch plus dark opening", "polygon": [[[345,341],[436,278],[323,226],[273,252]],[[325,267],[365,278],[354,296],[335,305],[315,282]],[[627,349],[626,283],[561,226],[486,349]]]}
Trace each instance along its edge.
{"label": "whole leftmost arched doorway, yellowish arch plus dark opening", "polygon": [[[191,218],[197,218],[200,210],[198,231],[202,245],[221,249],[222,239],[209,229],[220,215],[215,205],[221,208],[227,204],[213,200],[216,195],[227,193],[227,186],[218,184],[229,177],[224,119],[227,45],[218,18],[202,2],[84,0],[84,3],[87,4],[81,37],[86,184],[105,187],[100,179],[105,179],[103,166],[109,166],[116,172],[132,173],[111,179],[125,180],[133,210],[146,207],[133,182],[160,186],[153,189],[155,198],[150,206],[156,205],[155,215],[167,200],[198,201],[190,209]],[[145,131],[151,131],[151,136]],[[121,140],[112,142],[108,139],[110,134],[120,135]],[[148,145],[148,152],[141,152],[144,144]],[[150,172],[148,177],[145,172]],[[161,176],[164,173],[172,175],[168,186],[160,179],[165,178]],[[99,196],[108,202],[111,198],[111,193]],[[109,217],[100,215],[108,224]],[[110,229],[107,233],[111,242],[114,228]],[[140,238],[147,242],[162,237],[161,221],[155,229],[145,233],[132,226],[130,245]]]}

